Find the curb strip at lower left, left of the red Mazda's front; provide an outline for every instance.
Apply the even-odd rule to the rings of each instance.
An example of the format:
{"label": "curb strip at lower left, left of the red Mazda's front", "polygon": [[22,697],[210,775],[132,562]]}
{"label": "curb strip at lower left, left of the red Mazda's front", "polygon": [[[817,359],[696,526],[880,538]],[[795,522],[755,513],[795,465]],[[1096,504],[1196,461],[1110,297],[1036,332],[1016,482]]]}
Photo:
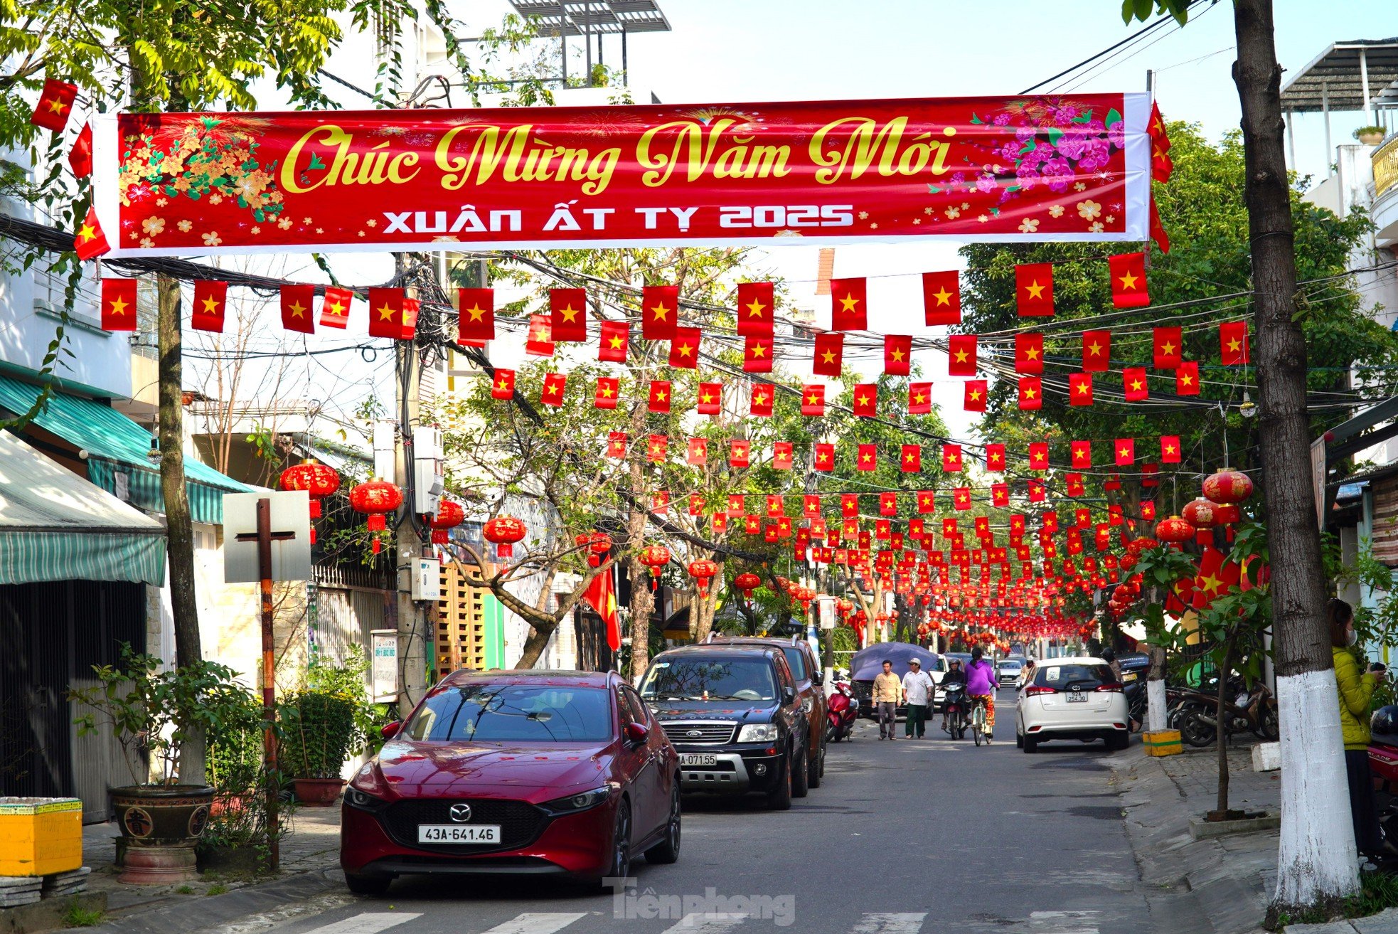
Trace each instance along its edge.
{"label": "curb strip at lower left, left of the red Mazda's front", "polygon": [[91,934],[197,931],[343,888],[344,879],[338,870],[310,870],[257,885],[246,885],[222,895],[180,898],[165,905],[141,907],[133,914],[89,927],[87,931]]}

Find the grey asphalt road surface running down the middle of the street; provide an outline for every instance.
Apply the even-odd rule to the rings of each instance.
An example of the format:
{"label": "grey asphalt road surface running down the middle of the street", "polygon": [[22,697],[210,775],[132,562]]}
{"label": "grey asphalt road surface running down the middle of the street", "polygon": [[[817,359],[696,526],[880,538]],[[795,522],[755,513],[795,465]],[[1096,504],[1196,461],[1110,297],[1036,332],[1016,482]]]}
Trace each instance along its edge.
{"label": "grey asphalt road surface running down the middle of the street", "polygon": [[384,899],[347,895],[231,934],[1149,930],[1102,744],[1025,755],[1012,692],[1001,692],[997,713],[988,748],[948,740],[939,720],[928,738],[896,742],[861,721],[850,742],[830,747],[822,787],[787,812],[686,800],[679,861],[637,861],[636,888],[621,896],[405,878]]}

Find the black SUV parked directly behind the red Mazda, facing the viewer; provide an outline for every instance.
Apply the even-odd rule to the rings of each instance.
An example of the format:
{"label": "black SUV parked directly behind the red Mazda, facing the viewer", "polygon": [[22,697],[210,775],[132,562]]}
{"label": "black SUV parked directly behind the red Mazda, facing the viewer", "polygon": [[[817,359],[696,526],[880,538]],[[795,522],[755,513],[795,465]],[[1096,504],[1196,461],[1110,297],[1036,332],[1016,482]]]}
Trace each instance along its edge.
{"label": "black SUV parked directly behind the red Mazda, facing the viewer", "polygon": [[761,791],[779,811],[805,797],[809,721],[781,649],[663,652],[640,680],[640,696],[679,752],[682,790]]}

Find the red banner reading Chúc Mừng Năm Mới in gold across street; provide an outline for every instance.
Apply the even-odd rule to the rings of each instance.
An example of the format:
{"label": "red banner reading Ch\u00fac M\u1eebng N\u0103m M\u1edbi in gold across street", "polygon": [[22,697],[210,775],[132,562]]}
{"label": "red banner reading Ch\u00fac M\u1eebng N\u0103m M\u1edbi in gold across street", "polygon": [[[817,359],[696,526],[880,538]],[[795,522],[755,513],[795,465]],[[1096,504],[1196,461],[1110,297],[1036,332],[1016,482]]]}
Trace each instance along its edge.
{"label": "red banner reading Ch\u00fac M\u1eebng N\u0103m M\u1edbi in gold across street", "polygon": [[1144,94],[122,113],[115,256],[948,238],[1144,240]]}

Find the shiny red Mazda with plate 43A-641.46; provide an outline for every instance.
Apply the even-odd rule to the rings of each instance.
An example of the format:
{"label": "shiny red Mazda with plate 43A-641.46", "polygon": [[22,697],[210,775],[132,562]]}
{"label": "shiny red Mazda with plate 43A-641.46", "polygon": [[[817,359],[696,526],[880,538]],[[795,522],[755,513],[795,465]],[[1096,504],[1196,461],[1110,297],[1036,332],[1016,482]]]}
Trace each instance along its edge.
{"label": "shiny red Mazda with plate 43A-641.46", "polygon": [[601,884],[633,853],[679,857],[678,756],[617,673],[459,671],[384,735],[345,790],[352,892],[433,872]]}

